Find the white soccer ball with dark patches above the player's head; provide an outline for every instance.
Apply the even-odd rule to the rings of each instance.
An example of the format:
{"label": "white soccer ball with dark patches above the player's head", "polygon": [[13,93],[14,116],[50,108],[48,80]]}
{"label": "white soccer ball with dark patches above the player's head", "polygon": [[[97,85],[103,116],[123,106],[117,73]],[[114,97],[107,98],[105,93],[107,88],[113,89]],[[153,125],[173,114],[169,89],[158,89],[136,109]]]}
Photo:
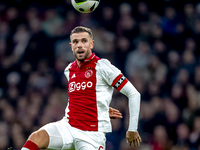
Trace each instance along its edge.
{"label": "white soccer ball with dark patches above the player's head", "polygon": [[81,13],[93,12],[100,0],[71,0],[72,6]]}

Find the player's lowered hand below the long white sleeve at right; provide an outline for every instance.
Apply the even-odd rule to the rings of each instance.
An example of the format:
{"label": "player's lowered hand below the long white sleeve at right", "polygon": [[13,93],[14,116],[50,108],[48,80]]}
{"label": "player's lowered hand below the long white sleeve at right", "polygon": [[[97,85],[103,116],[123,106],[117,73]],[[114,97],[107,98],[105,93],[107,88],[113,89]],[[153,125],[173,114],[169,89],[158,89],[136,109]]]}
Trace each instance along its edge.
{"label": "player's lowered hand below the long white sleeve at right", "polygon": [[142,139],[137,131],[136,132],[127,131],[126,132],[126,140],[130,146],[133,143],[134,147],[140,146],[140,142],[142,142]]}

